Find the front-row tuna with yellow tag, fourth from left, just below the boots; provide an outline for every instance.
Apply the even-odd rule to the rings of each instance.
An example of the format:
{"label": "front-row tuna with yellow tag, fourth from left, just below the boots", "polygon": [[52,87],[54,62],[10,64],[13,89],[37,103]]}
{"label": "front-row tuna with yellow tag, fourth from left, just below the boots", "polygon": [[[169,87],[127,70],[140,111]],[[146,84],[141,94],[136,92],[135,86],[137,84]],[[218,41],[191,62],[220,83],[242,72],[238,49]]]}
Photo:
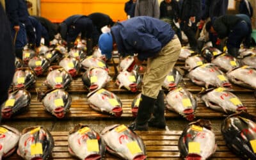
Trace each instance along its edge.
{"label": "front-row tuna with yellow tag, fourth from left, just below the boots", "polygon": [[110,125],[105,127],[100,136],[108,152],[122,159],[146,159],[145,145],[141,138],[125,125]]}

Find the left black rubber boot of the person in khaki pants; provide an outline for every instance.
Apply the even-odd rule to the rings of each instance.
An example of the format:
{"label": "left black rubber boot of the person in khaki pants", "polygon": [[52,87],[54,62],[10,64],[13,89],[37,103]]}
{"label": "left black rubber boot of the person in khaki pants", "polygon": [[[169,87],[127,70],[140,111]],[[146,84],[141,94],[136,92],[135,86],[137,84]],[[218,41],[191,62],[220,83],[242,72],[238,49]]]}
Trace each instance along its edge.
{"label": "left black rubber boot of the person in khaki pants", "polygon": [[156,99],[147,97],[141,94],[141,102],[138,109],[138,114],[134,122],[129,125],[129,129],[133,131],[147,131],[148,120],[151,117]]}

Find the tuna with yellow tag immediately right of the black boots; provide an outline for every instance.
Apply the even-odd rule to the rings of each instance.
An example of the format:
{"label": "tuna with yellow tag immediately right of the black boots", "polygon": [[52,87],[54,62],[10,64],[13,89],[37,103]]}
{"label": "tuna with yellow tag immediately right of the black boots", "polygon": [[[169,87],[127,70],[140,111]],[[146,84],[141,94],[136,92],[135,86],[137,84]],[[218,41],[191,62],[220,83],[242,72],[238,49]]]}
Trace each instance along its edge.
{"label": "tuna with yellow tag immediately right of the black boots", "polygon": [[177,88],[166,95],[166,107],[191,121],[195,118],[197,103],[193,95],[184,88]]}

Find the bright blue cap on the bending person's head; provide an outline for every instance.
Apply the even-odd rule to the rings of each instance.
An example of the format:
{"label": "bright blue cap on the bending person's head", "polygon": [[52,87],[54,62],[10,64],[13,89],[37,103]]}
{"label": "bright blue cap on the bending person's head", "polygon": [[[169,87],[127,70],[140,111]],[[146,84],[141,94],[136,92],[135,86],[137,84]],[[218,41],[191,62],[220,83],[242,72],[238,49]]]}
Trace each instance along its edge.
{"label": "bright blue cap on the bending person's head", "polygon": [[99,47],[102,54],[105,54],[108,60],[112,57],[113,38],[111,33],[102,33],[99,38]]}

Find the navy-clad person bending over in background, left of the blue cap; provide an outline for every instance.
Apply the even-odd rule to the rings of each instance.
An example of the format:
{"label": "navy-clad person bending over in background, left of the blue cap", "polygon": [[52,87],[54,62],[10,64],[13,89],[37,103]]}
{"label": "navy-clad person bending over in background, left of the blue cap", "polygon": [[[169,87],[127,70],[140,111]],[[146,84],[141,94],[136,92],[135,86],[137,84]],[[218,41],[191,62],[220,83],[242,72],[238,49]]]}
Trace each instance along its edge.
{"label": "navy-clad person bending over in background, left of the blue cap", "polygon": [[85,15],[72,15],[60,24],[60,35],[63,40],[67,41],[68,51],[74,47],[74,42],[81,33],[81,39],[86,40],[87,55],[92,55],[95,30],[92,19]]}

